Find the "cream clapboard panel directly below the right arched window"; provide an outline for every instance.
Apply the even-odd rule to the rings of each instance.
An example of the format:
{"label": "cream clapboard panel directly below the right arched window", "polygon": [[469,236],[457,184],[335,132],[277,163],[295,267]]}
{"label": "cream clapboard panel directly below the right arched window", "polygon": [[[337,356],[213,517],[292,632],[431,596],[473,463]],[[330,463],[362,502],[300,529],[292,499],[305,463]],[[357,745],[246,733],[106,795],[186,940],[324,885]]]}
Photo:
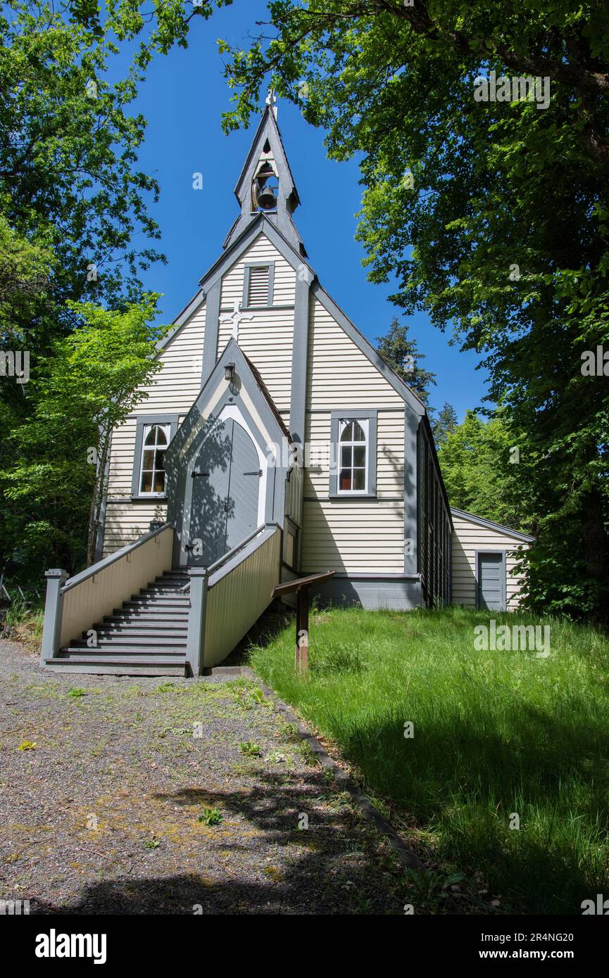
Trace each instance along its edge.
{"label": "cream clapboard panel directly below the right arched window", "polygon": [[403,572],[401,503],[304,502],[303,572]]}

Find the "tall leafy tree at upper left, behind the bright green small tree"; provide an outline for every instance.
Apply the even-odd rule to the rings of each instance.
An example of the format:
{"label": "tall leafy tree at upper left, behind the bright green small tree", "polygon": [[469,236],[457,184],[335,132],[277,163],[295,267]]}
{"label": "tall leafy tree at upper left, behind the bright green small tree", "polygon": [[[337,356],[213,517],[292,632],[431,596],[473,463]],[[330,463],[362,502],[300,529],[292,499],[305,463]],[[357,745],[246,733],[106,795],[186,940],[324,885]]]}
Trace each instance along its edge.
{"label": "tall leafy tree at upper left, behind the bright green small tree", "polygon": [[[149,213],[159,187],[138,166],[146,120],[133,102],[151,59],[186,47],[191,22],[229,2],[10,0],[0,8],[0,350],[27,351],[31,372],[28,384],[0,378],[0,472],[14,477],[0,484],[0,568],[8,561],[12,573],[49,562],[73,568],[82,550],[93,483],[81,425],[91,417],[64,416],[54,442],[41,391],[61,340],[81,328],[73,303],[84,303],[84,320],[91,303],[100,316],[103,308],[126,314],[141,301],[142,271],[164,260]],[[105,352],[91,350],[100,382],[112,370]],[[50,469],[45,439],[57,448]],[[97,442],[87,434],[84,443]]]}

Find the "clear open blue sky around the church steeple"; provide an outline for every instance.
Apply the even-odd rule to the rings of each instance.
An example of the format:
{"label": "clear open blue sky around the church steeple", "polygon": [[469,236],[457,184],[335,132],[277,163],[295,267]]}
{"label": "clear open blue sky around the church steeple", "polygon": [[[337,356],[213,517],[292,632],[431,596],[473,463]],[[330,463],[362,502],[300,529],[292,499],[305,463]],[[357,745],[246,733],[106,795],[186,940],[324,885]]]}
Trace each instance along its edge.
{"label": "clear open blue sky around the church steeple", "polygon": [[[144,281],[147,288],[164,293],[165,321],[186,305],[221,252],[238,213],[233,188],[256,132],[255,120],[249,130],[222,133],[220,114],[230,108],[230,92],[216,40],[224,37],[246,45],[265,14],[262,0],[248,0],[216,12],[208,22],[195,19],[189,47],[154,59],[133,104],[149,122],[139,165],[161,185],[161,200],[151,206],[151,213],[161,226],[160,250],[167,265],[156,265]],[[363,249],[353,240],[362,191],[357,164],[329,160],[323,130],[307,125],[288,103],[280,102],[278,109],[301,198],[295,222],[310,263],[324,288],[374,342],[388,330],[396,310],[387,298],[391,286],[366,281]],[[193,190],[197,171],[204,175],[203,190]],[[466,409],[478,406],[486,393],[485,373],[475,369],[479,358],[449,346],[448,333],[434,328],[427,316],[410,316],[407,322],[426,356],[423,366],[437,374],[431,404],[440,408],[449,401],[461,421]]]}

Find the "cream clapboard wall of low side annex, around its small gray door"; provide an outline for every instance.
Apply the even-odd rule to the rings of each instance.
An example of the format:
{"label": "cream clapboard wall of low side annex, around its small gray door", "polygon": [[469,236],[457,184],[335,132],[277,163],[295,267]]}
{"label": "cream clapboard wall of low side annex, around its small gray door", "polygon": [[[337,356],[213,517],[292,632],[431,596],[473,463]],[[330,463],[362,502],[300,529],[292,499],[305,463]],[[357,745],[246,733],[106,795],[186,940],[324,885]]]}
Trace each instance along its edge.
{"label": "cream clapboard wall of low side annex, around its small gray door", "polygon": [[513,611],[521,597],[521,582],[514,572],[515,551],[528,544],[454,514],[452,523],[452,602],[476,607],[476,551],[505,550],[506,603],[508,610]]}

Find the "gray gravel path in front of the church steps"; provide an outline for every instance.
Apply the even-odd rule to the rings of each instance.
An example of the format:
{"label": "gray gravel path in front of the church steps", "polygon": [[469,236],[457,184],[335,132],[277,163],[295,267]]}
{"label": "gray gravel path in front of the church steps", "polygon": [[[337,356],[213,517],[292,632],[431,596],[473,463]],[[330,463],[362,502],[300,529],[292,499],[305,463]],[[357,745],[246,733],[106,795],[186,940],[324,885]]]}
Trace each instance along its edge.
{"label": "gray gravel path in front of the church steps", "polygon": [[0,642],[0,704],[0,899],[401,912],[384,839],[249,680],[64,676]]}

